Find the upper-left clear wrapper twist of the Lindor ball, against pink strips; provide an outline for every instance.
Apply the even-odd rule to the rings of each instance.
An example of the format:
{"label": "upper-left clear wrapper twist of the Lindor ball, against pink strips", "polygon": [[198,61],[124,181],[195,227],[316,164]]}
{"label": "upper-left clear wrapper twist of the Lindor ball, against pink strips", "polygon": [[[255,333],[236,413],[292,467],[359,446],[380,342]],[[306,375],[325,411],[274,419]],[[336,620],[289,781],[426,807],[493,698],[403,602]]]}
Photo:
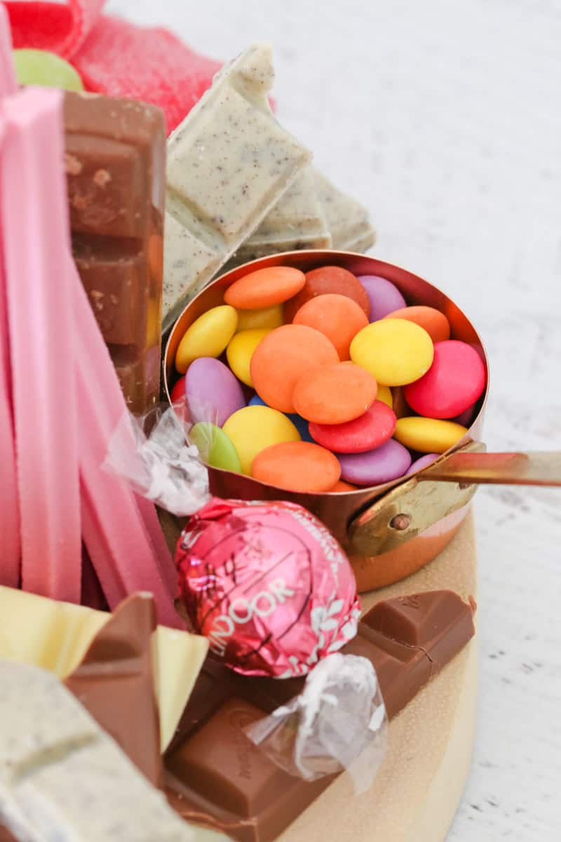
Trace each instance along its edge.
{"label": "upper-left clear wrapper twist of the Lindor ball, against pink strips", "polygon": [[188,424],[173,408],[156,408],[141,418],[127,413],[103,466],[161,509],[177,517],[193,514],[209,499],[209,474],[187,434]]}

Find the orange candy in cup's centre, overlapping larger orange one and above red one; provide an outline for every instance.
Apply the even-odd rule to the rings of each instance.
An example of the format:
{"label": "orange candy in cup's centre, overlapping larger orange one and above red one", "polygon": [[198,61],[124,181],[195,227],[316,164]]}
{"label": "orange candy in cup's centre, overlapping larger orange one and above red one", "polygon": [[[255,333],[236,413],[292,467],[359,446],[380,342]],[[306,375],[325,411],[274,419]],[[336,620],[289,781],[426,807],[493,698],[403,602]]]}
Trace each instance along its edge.
{"label": "orange candy in cup's centre, overlapping larger orange one and above red one", "polygon": [[372,406],[378,385],[354,363],[324,365],[299,378],[293,395],[296,412],[315,424],[345,424]]}

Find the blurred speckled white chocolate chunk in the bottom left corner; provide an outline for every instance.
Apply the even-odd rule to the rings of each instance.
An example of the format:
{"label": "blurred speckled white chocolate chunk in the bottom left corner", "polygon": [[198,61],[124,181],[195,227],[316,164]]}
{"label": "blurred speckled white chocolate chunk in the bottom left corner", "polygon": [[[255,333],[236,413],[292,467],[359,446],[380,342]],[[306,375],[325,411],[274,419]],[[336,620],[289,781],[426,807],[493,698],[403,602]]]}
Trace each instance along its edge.
{"label": "blurred speckled white chocolate chunk in the bottom left corner", "polygon": [[0,823],[16,839],[193,840],[56,676],[0,662],[0,698]]}

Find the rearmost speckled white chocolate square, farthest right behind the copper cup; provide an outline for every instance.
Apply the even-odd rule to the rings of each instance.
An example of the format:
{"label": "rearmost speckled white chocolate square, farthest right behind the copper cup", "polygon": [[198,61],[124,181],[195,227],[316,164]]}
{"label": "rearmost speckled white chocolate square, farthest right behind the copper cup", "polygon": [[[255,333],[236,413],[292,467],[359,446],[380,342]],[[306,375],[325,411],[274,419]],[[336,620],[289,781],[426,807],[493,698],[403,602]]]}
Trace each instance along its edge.
{"label": "rearmost speckled white chocolate square, farthest right behind the copper cup", "polygon": [[343,193],[313,168],[315,190],[325,212],[333,248],[349,252],[365,252],[373,246],[376,232],[370,224],[368,210],[352,196]]}

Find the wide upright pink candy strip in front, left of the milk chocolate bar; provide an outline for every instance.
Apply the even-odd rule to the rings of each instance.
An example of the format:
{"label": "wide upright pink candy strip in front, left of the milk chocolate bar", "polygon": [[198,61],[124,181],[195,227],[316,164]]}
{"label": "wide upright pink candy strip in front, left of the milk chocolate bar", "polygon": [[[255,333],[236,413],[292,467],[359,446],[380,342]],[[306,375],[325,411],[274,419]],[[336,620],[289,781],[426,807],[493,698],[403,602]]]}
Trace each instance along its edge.
{"label": "wide upright pink candy strip in front, left of the milk chocolate bar", "polygon": [[4,100],[0,172],[22,587],[79,602],[75,322],[59,91]]}

